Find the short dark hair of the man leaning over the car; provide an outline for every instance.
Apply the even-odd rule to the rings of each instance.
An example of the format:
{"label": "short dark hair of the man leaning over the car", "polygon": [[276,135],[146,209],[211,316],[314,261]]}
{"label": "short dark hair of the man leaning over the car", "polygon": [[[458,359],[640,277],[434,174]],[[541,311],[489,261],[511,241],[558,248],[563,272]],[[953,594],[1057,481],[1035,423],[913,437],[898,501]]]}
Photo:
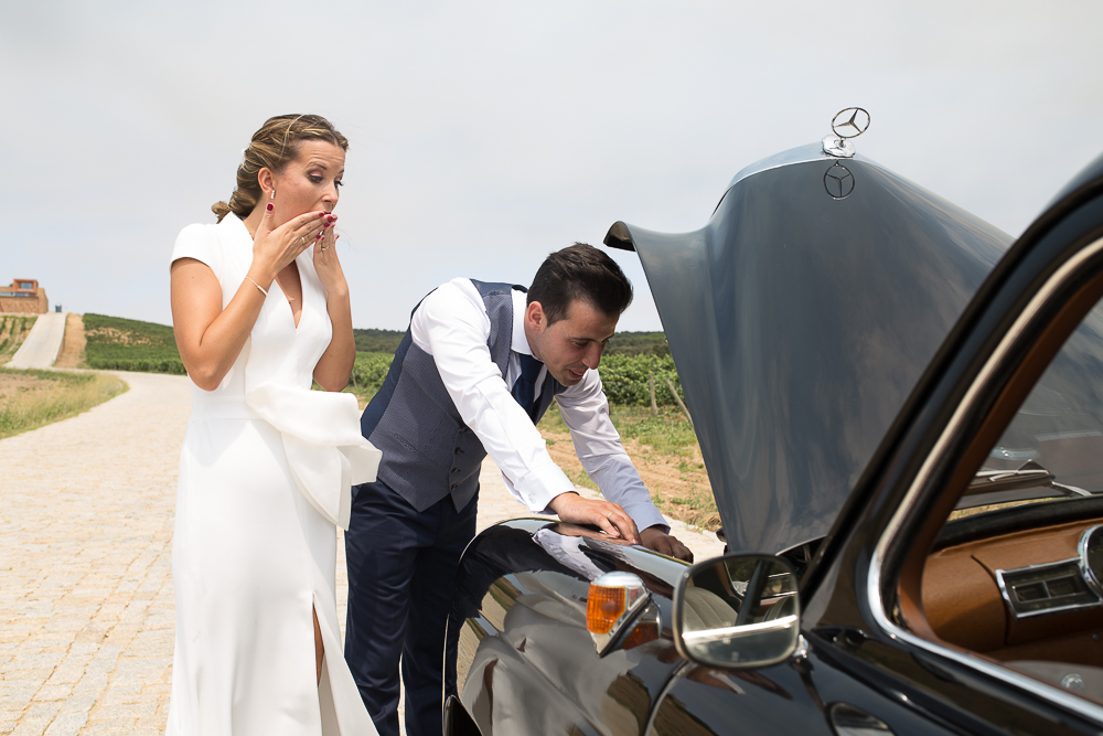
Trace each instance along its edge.
{"label": "short dark hair of the man leaning over the car", "polygon": [[528,289],[528,303],[540,302],[548,324],[567,317],[572,301],[582,300],[609,317],[620,317],[632,303],[632,284],[617,262],[592,245],[576,243],[548,255]]}

